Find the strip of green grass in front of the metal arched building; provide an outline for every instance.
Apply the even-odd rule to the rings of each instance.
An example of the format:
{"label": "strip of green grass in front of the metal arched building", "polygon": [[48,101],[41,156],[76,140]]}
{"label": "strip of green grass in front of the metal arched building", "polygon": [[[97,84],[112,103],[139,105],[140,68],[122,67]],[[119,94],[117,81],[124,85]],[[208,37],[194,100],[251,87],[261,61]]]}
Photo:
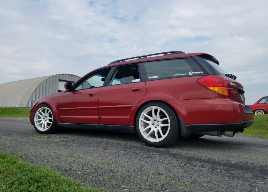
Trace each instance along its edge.
{"label": "strip of green grass in front of the metal arched building", "polygon": [[31,108],[0,107],[0,117],[29,117]]}

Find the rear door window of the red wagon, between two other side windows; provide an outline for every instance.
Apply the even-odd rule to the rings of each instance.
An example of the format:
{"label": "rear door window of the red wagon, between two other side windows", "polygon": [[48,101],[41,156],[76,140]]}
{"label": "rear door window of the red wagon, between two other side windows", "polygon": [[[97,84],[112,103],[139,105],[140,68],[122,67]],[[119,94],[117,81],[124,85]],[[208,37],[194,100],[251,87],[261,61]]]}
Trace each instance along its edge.
{"label": "rear door window of the red wagon, between two other side windows", "polygon": [[109,82],[109,85],[118,85],[125,83],[134,83],[141,81],[139,75],[138,65],[129,65],[118,67],[115,71],[113,78]]}

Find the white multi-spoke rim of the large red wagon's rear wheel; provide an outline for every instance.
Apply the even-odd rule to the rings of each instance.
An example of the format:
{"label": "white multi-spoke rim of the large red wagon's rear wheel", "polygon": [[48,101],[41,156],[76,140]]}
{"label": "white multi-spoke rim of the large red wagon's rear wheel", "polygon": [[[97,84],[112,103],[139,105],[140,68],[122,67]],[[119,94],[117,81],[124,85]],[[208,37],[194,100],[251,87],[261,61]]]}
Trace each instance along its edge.
{"label": "white multi-spoke rim of the large red wagon's rear wheel", "polygon": [[147,107],[139,117],[141,135],[150,142],[159,142],[168,135],[170,119],[167,112],[158,106]]}

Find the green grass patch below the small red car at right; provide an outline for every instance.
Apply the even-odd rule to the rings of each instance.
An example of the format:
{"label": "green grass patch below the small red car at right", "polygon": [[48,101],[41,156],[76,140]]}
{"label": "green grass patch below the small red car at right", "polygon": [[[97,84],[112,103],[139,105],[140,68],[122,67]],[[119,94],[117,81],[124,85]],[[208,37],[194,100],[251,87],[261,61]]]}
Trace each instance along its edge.
{"label": "green grass patch below the small red car at right", "polygon": [[268,114],[255,115],[253,125],[245,128],[241,134],[268,138]]}

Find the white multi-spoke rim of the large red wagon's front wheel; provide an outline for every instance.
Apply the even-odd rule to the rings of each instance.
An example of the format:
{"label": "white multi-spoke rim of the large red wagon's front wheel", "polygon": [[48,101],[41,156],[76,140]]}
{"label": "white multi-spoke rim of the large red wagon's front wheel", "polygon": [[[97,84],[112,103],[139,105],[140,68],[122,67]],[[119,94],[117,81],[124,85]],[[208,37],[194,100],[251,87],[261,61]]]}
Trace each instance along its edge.
{"label": "white multi-spoke rim of the large red wagon's front wheel", "polygon": [[40,107],[34,114],[34,124],[40,131],[48,130],[53,124],[53,115],[48,107]]}

